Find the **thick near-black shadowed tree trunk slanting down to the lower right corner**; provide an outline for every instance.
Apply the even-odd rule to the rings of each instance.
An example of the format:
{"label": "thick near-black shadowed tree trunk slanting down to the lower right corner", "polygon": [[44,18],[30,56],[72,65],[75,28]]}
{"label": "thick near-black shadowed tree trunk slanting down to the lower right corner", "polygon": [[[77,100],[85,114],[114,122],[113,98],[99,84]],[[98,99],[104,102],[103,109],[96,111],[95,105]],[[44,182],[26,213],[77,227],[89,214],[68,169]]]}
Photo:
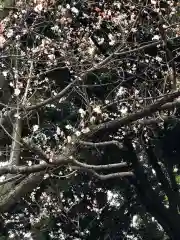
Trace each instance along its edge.
{"label": "thick near-black shadowed tree trunk slanting down to the lower right corner", "polygon": [[171,240],[180,239],[180,215],[178,213],[174,214],[174,212],[166,208],[159,198],[159,195],[152,189],[144,173],[144,169],[139,163],[131,140],[125,139],[125,146],[128,149],[127,157],[132,162],[132,167],[136,176],[132,183],[137,190],[142,204],[145,206],[147,212],[155,217]]}

